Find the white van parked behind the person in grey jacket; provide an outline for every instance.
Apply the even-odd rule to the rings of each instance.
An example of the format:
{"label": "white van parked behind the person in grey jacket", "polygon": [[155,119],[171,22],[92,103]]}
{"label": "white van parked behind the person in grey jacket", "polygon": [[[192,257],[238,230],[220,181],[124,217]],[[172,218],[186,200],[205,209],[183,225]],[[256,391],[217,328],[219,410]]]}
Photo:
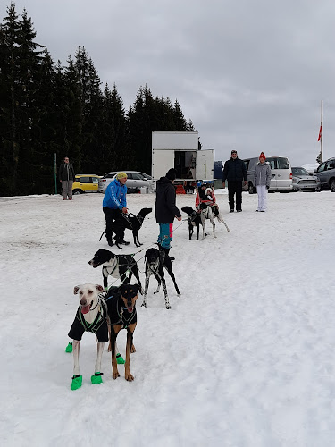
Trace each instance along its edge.
{"label": "white van parked behind the person in grey jacket", "polygon": [[[247,190],[249,194],[256,192],[254,185],[255,165],[259,162],[258,157],[243,160],[247,168]],[[271,167],[270,191],[289,192],[293,190],[292,170],[289,159],[286,156],[268,156],[266,162]]]}

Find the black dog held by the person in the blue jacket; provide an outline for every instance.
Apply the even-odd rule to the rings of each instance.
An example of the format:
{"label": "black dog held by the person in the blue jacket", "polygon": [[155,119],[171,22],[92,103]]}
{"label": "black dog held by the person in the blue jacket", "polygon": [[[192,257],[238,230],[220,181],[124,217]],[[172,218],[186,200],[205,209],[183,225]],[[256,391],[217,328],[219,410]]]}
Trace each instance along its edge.
{"label": "black dog held by the person in the blue jacket", "polygon": [[115,233],[114,240],[115,245],[118,249],[121,249],[120,245],[123,242],[122,239],[125,228],[128,228],[128,230],[132,231],[132,235],[134,236],[134,244],[136,245],[136,247],[143,245],[139,243],[138,232],[142,226],[144,218],[146,217],[146,215],[151,213],[152,210],[153,208],[142,208],[139,211],[138,215],[132,215],[132,214],[125,215],[121,213],[121,215],[119,215],[114,220],[112,224],[112,229],[113,232]]}

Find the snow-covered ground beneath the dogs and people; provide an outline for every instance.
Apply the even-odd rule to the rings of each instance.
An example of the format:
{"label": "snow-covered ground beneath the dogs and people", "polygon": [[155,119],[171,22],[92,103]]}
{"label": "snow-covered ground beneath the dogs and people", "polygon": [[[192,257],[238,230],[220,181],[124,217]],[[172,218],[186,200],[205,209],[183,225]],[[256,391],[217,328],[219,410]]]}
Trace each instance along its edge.
{"label": "snow-covered ground beneath the dogs and people", "polygon": [[[335,443],[335,194],[269,195],[269,212],[217,223],[217,239],[188,240],[176,221],[171,255],[182,295],[167,286],[140,306],[131,356],[132,383],[90,384],[95,337],[80,347],[83,385],[71,391],[64,352],[80,283],[102,283],[88,260],[105,223],[102,195],[0,198],[1,414],[5,446],[332,447]],[[177,205],[194,206],[195,196]],[[130,195],[130,212],[155,195]],[[186,215],[185,215],[186,218]],[[139,233],[155,243],[154,212]],[[126,240],[132,242],[130,232]],[[119,250],[115,249],[115,252]],[[123,252],[136,252],[133,243]],[[144,251],[136,255],[144,283]],[[111,283],[111,279],[110,279]],[[125,331],[118,344],[125,352]]]}

